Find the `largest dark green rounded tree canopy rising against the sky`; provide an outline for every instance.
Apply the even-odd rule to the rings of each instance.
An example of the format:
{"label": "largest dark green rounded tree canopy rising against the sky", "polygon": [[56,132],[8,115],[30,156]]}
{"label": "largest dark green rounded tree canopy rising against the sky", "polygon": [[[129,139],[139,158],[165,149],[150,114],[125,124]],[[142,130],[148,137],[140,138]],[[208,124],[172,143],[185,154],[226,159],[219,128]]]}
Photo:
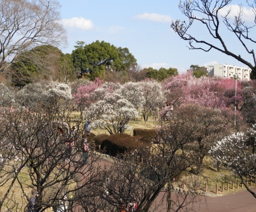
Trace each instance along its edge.
{"label": "largest dark green rounded tree canopy rising against the sky", "polygon": [[72,52],[73,64],[80,77],[90,80],[96,77],[104,79],[106,71],[126,73],[132,66],[137,65],[136,59],[128,48],[116,48],[110,43],[96,40],[91,44],[77,42]]}

